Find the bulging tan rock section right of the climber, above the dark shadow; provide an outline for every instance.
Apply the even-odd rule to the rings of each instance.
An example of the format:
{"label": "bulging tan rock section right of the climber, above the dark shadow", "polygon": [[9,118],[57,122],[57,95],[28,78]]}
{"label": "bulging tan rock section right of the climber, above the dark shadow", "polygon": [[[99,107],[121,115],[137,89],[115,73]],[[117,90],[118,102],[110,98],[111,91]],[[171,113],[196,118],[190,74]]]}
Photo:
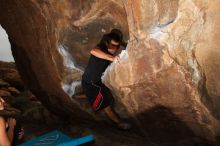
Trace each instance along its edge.
{"label": "bulging tan rock section right of the climber, above the dark shadow", "polygon": [[[117,100],[122,104],[118,109],[125,107],[130,113],[128,116],[134,117],[142,127],[146,119],[140,114],[158,105],[169,107],[197,135],[215,138],[220,128],[219,99],[210,94],[218,93],[210,86],[215,89],[219,86],[215,82],[207,84],[207,78],[211,76],[207,77],[205,70],[214,66],[215,69],[210,70],[214,79],[218,76],[219,65],[217,57],[214,57],[215,61],[210,58],[213,64],[210,66],[202,65],[200,61],[204,63],[202,55],[207,55],[210,50],[217,51],[210,46],[219,46],[213,40],[216,35],[207,35],[218,25],[219,14],[213,14],[213,8],[219,8],[218,2],[126,2],[130,32],[127,52],[120,63],[109,67],[104,77],[106,84],[120,97]],[[216,18],[215,21],[210,17]],[[205,41],[207,36],[210,41]]]}

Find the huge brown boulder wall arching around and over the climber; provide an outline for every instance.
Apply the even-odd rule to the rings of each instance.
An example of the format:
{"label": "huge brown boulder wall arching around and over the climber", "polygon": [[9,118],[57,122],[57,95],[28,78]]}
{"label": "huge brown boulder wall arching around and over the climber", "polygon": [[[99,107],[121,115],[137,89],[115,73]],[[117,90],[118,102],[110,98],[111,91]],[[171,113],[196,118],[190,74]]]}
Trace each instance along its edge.
{"label": "huge brown boulder wall arching around and over the climber", "polygon": [[165,107],[197,136],[215,141],[219,9],[218,0],[1,0],[0,23],[25,83],[49,109],[80,120],[91,114],[71,96],[89,50],[111,28],[121,29],[127,49],[103,77],[119,114],[148,133],[146,113]]}

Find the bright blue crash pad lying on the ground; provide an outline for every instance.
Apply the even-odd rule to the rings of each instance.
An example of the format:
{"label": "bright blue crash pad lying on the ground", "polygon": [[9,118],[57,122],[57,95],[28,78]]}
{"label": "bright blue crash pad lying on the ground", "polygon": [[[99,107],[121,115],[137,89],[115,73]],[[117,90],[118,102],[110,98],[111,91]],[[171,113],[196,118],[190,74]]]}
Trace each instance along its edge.
{"label": "bright blue crash pad lying on the ground", "polygon": [[94,137],[94,135],[87,135],[81,138],[71,138],[62,132],[55,130],[27,141],[19,146],[77,146],[94,141]]}

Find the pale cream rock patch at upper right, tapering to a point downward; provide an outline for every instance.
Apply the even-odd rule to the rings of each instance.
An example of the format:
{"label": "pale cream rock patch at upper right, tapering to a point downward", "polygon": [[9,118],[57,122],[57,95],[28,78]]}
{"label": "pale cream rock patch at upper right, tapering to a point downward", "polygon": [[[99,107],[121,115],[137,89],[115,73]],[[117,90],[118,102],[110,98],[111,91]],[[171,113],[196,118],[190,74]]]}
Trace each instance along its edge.
{"label": "pale cream rock patch at upper right, tapering to a point downward", "polygon": [[197,84],[201,73],[193,52],[204,31],[205,14],[193,1],[181,0],[180,4],[177,18],[166,29],[168,35],[160,40],[167,46],[171,58],[188,66],[192,80]]}

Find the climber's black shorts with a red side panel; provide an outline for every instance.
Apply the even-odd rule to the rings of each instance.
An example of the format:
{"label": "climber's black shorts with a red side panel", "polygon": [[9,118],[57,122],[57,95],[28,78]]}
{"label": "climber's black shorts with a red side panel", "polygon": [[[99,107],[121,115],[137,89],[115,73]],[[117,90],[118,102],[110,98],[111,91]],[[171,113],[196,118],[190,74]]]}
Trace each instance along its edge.
{"label": "climber's black shorts with a red side panel", "polygon": [[113,104],[114,98],[108,87],[102,82],[87,83],[82,81],[82,87],[93,110],[99,111]]}

